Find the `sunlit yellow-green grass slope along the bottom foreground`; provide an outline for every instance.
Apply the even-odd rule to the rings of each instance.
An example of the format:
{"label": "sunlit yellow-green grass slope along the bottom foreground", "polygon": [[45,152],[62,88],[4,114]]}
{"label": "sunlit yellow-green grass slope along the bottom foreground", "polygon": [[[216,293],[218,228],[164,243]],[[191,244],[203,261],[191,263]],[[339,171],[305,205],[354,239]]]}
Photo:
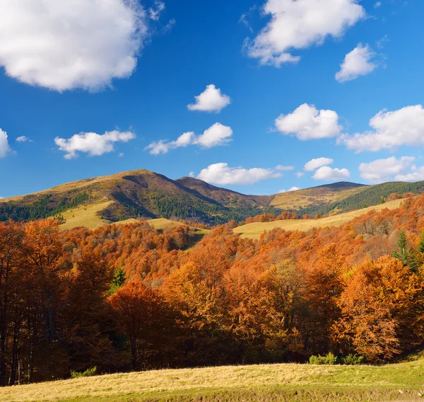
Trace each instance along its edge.
{"label": "sunlit yellow-green grass slope along the bottom foreground", "polygon": [[423,401],[424,360],[264,364],[109,374],[0,389],[0,401]]}

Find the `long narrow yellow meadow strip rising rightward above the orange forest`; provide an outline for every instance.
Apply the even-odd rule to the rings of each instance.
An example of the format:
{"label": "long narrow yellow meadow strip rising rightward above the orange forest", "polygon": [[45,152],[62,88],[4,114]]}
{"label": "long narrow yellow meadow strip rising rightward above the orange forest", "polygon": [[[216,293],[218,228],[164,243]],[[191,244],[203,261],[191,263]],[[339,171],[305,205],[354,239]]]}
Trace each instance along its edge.
{"label": "long narrow yellow meadow strip rising rightward above the orange forest", "polygon": [[259,239],[264,231],[271,231],[276,227],[280,227],[287,231],[308,231],[313,228],[341,226],[351,222],[355,217],[360,217],[360,215],[367,214],[372,210],[381,211],[384,208],[395,209],[399,207],[401,203],[402,200],[393,200],[381,205],[376,205],[375,207],[367,207],[358,209],[357,211],[345,212],[343,214],[320,219],[286,219],[275,222],[255,222],[253,224],[237,227],[234,231],[235,233],[241,234],[243,238]]}

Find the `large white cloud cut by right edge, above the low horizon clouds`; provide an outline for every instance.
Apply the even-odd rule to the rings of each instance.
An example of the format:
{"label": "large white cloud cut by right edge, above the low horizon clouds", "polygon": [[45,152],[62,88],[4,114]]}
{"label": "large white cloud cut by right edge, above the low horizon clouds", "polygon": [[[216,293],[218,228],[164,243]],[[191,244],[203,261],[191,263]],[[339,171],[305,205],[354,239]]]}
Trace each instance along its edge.
{"label": "large white cloud cut by right edge, above the low horizon clouds", "polygon": [[353,135],[343,134],[339,144],[356,151],[394,151],[401,146],[424,145],[424,109],[422,105],[406,106],[389,112],[381,110],[370,120],[372,130]]}

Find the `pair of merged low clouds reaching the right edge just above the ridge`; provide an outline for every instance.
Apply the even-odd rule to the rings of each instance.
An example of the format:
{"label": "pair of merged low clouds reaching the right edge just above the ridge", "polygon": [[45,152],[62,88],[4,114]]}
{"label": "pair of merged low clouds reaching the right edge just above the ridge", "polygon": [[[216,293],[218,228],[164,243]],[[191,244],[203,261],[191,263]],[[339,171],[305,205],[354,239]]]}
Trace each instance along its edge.
{"label": "pair of merged low clouds reaching the right edge just above the ridge", "polygon": [[360,177],[369,183],[383,183],[388,180],[418,181],[424,180],[424,167],[411,166],[416,159],[413,156],[390,156],[377,159],[359,166]]}

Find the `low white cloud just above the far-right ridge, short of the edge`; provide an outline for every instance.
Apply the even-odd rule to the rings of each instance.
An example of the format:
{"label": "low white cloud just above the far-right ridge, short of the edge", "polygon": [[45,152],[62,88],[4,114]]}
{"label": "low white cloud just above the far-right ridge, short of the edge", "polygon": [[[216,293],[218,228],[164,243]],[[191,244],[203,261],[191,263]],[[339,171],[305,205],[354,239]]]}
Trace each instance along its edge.
{"label": "low white cloud just above the far-right ridge, short of the edge", "polygon": [[392,180],[394,176],[396,176],[396,180],[399,180],[397,177],[406,173],[413,161],[415,161],[413,156],[402,156],[399,159],[391,156],[387,159],[361,163],[359,166],[360,177],[370,183],[383,183]]}

